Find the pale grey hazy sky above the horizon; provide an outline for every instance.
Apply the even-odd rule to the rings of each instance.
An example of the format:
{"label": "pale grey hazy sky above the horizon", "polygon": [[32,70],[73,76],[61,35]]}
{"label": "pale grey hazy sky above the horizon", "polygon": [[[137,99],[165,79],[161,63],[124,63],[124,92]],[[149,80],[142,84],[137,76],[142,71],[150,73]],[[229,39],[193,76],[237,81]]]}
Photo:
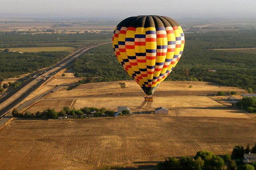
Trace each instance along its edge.
{"label": "pale grey hazy sky above the horizon", "polygon": [[0,0],[1,14],[36,14],[63,18],[251,17],[256,0]]}

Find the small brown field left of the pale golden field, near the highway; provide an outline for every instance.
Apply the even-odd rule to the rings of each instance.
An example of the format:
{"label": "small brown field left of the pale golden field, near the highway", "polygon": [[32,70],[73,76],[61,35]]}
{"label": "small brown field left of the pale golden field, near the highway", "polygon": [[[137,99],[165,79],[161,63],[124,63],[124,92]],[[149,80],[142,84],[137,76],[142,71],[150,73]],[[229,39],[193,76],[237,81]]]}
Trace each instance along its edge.
{"label": "small brown field left of the pale golden field, near the highway", "polygon": [[64,107],[69,107],[72,103],[72,99],[56,99],[56,100],[42,100],[38,101],[34,104],[32,104],[30,107],[26,109],[26,111],[30,111],[31,113],[36,113],[37,111],[44,111],[45,109],[48,109],[49,107],[51,109],[55,109],[55,111],[60,111]]}

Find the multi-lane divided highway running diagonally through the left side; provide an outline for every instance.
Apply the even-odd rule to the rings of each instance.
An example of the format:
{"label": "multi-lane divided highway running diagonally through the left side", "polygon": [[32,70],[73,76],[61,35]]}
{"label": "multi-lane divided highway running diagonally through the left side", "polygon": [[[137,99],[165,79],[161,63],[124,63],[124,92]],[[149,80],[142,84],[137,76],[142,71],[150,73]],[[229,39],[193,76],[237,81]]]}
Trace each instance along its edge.
{"label": "multi-lane divided highway running diagonally through the left side", "polygon": [[[64,69],[64,67],[70,65],[74,59],[85,53],[88,49],[97,47],[102,44],[106,43],[101,43],[98,45],[80,49],[79,51],[73,53],[69,57],[66,57],[56,65],[44,69],[39,73],[36,73],[34,77],[32,77],[30,80],[27,81],[26,84],[22,86],[22,88],[19,88],[18,90],[12,92],[10,95],[8,95],[8,97],[1,99],[0,126],[1,124],[4,124],[4,122],[10,119],[11,115],[7,113],[9,113],[14,107],[16,107],[20,102],[22,102],[22,100],[24,100],[30,93],[32,93],[35,89],[40,87],[40,85],[42,85],[44,82],[50,79],[50,77],[58,73],[60,70]],[[4,117],[4,115],[6,115],[6,117]]]}

